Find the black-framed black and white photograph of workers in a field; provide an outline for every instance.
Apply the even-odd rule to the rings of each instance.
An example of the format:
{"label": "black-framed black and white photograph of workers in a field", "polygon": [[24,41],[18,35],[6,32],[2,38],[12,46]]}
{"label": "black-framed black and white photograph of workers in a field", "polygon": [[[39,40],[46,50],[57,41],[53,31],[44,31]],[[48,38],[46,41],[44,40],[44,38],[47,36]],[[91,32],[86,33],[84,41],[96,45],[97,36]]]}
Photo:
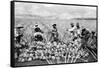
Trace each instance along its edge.
{"label": "black-framed black and white photograph of workers in a field", "polygon": [[98,61],[97,6],[13,1],[15,67]]}

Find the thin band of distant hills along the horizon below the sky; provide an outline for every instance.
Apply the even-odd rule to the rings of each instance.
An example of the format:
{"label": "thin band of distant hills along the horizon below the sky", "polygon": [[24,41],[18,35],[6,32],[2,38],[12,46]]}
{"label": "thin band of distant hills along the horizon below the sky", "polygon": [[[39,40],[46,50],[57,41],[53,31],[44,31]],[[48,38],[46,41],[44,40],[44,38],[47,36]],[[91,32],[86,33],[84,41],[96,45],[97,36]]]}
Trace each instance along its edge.
{"label": "thin band of distant hills along the horizon below the sky", "polygon": [[[47,19],[47,20],[58,20],[61,19],[59,16],[39,16],[39,15],[27,15],[27,14],[19,14],[15,16],[16,18],[28,18],[28,19]],[[64,18],[67,20],[67,18]],[[73,20],[97,20],[97,18],[69,18]],[[61,19],[63,20],[63,18]]]}

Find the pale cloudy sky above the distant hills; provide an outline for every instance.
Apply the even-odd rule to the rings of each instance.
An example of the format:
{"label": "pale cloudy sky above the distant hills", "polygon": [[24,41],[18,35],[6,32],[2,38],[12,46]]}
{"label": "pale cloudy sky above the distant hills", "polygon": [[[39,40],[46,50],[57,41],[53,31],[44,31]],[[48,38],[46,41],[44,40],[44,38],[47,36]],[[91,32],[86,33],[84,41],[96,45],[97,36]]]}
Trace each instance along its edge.
{"label": "pale cloudy sky above the distant hills", "polygon": [[16,2],[15,15],[54,16],[60,19],[96,18],[96,7]]}

